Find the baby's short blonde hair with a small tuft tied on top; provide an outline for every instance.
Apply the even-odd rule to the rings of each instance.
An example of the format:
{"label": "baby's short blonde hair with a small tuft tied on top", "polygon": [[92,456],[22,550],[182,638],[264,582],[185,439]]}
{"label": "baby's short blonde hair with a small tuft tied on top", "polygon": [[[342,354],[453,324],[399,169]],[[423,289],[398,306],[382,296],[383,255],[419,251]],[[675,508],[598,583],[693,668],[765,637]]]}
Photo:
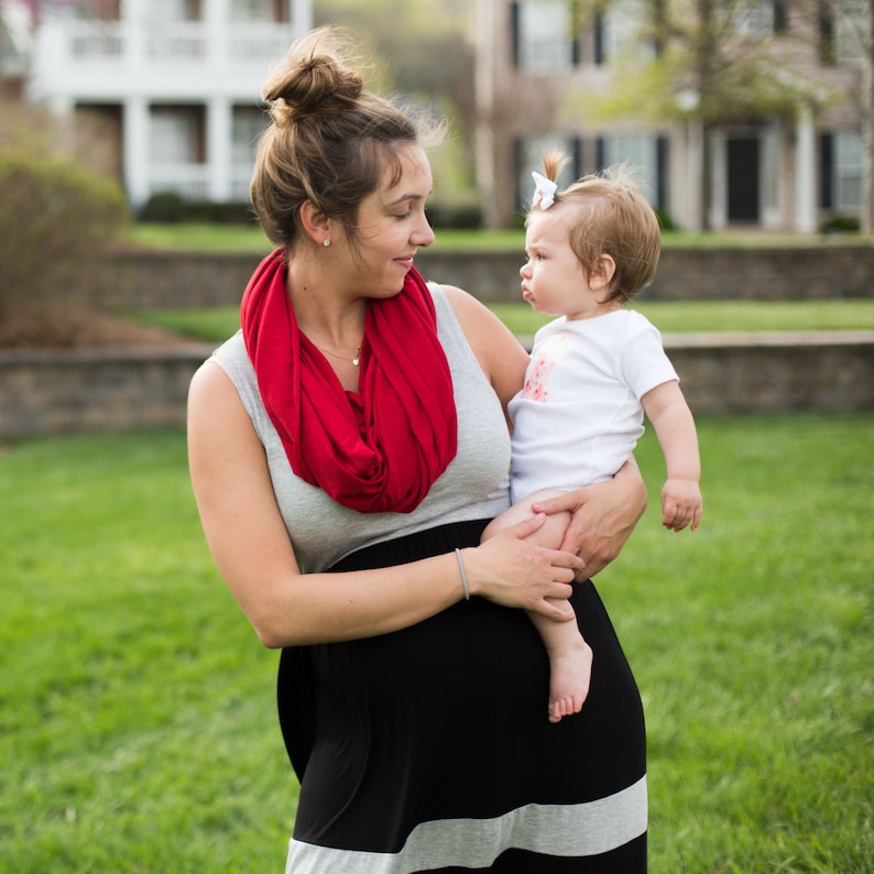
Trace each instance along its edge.
{"label": "baby's short blonde hair with a small tuft tied on top", "polygon": [[[546,152],[544,175],[555,182],[567,162],[560,151]],[[629,165],[583,176],[557,192],[555,204],[548,208],[564,212],[571,207],[576,212],[568,221],[569,243],[586,275],[591,275],[602,254],[610,255],[616,264],[604,302],[625,302],[645,288],[658,266],[662,229]],[[539,211],[543,207],[537,201],[528,218]]]}

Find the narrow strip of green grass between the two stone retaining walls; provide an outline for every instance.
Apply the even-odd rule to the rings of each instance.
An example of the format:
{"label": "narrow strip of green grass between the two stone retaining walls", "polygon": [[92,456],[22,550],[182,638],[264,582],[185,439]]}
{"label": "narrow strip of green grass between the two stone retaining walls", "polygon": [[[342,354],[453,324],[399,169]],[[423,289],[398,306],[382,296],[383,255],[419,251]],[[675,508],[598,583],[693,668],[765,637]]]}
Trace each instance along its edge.
{"label": "narrow strip of green grass between the two stone retaining walls", "polygon": [[[550,319],[525,303],[490,304],[490,307],[517,335],[533,335]],[[663,332],[874,330],[874,299],[636,301],[633,308],[647,316]],[[139,321],[209,342],[220,341],[240,327],[236,306],[159,309],[129,315]]]}

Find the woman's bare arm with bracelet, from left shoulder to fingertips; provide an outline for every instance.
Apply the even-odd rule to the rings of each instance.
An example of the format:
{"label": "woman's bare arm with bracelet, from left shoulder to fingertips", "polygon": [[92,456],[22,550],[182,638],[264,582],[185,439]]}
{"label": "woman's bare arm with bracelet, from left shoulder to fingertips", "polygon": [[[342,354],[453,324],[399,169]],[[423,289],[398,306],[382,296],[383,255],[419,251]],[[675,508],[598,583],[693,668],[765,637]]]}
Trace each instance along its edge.
{"label": "woman's bare arm with bracelet, from left shoulder to fingertips", "polygon": [[[207,362],[188,400],[188,457],[195,499],[212,557],[265,646],[326,643],[407,627],[461,600],[455,554],[343,573],[302,573],[270,480],[263,447],[227,374]],[[522,537],[462,550],[470,593],[555,619],[548,599],[567,599],[581,569],[567,553]]]}

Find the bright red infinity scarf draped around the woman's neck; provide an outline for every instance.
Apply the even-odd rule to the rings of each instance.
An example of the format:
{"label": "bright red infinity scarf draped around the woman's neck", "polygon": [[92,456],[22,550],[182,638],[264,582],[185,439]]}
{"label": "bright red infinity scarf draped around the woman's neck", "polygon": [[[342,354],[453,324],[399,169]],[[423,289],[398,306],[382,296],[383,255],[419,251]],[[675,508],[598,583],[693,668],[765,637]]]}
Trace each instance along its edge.
{"label": "bright red infinity scarf draped around the woman's neck", "polygon": [[411,270],[403,291],[372,302],[359,393],[301,334],[277,249],[255,270],[240,309],[264,406],[292,470],[362,513],[408,513],[455,458],[452,378],[434,301]]}

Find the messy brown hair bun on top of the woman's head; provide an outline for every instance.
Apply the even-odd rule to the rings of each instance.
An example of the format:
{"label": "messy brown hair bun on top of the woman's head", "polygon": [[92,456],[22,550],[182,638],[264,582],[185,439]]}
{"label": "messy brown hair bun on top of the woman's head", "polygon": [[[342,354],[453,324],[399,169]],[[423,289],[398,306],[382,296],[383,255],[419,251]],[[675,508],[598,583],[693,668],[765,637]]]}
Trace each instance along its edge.
{"label": "messy brown hair bun on top of the woman's head", "polygon": [[264,86],[274,123],[334,114],[361,96],[363,79],[345,59],[349,45],[337,30],[321,28],[292,46]]}

